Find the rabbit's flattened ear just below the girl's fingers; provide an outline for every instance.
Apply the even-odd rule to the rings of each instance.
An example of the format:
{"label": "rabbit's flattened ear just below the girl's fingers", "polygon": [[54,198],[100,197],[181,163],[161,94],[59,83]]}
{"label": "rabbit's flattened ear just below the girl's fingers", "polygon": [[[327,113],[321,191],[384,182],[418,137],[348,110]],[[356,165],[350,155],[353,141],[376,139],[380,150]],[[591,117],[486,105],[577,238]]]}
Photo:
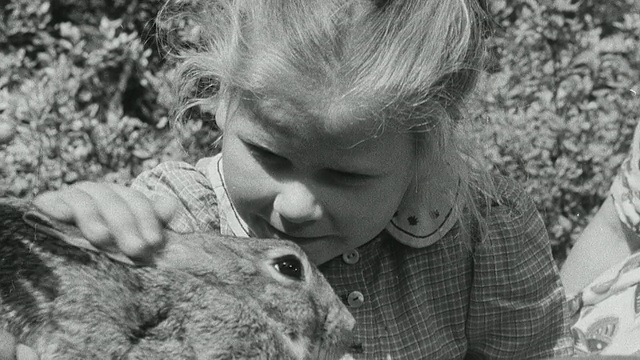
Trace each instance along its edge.
{"label": "rabbit's flattened ear just below the girl's fingers", "polygon": [[51,220],[48,216],[36,210],[29,210],[22,215],[22,220],[25,224],[31,226],[38,232],[45,233],[58,240],[62,240],[65,243],[90,250],[97,253],[103,253],[113,260],[125,263],[128,265],[135,265],[135,263],[126,257],[122,253],[112,253],[104,250],[100,250],[93,246],[87,239],[84,238],[80,230],[68,224],[64,224],[59,221]]}

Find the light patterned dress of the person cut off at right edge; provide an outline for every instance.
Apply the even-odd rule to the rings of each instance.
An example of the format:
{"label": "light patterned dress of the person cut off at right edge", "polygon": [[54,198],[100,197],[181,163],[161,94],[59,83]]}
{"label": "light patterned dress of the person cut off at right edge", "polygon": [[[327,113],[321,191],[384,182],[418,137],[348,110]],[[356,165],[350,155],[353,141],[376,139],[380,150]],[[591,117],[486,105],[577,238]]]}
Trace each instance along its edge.
{"label": "light patterned dress of the person cut off at right edge", "polygon": [[[620,221],[640,234],[640,123],[611,185]],[[601,274],[570,301],[578,354],[640,355],[640,254]]]}

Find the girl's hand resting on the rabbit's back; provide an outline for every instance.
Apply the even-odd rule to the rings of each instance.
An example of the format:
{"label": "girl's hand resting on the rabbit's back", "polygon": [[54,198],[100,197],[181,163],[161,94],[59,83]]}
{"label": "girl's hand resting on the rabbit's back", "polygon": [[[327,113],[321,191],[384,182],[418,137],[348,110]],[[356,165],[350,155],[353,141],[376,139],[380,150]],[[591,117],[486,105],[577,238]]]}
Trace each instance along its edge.
{"label": "girl's hand resting on the rabbit's back", "polygon": [[146,262],[164,246],[164,224],[177,203],[151,201],[125,186],[82,182],[38,195],[33,204],[53,219],[74,223],[94,246]]}

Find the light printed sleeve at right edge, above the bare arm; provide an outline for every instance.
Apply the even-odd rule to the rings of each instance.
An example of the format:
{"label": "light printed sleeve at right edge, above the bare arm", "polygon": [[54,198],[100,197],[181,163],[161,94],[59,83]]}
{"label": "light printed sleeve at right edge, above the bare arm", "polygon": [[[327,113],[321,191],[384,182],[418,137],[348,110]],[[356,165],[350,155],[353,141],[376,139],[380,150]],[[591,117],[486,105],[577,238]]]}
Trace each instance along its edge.
{"label": "light printed sleeve at right edge, above the bare arm", "polygon": [[640,235],[640,122],[610,190],[620,221]]}

